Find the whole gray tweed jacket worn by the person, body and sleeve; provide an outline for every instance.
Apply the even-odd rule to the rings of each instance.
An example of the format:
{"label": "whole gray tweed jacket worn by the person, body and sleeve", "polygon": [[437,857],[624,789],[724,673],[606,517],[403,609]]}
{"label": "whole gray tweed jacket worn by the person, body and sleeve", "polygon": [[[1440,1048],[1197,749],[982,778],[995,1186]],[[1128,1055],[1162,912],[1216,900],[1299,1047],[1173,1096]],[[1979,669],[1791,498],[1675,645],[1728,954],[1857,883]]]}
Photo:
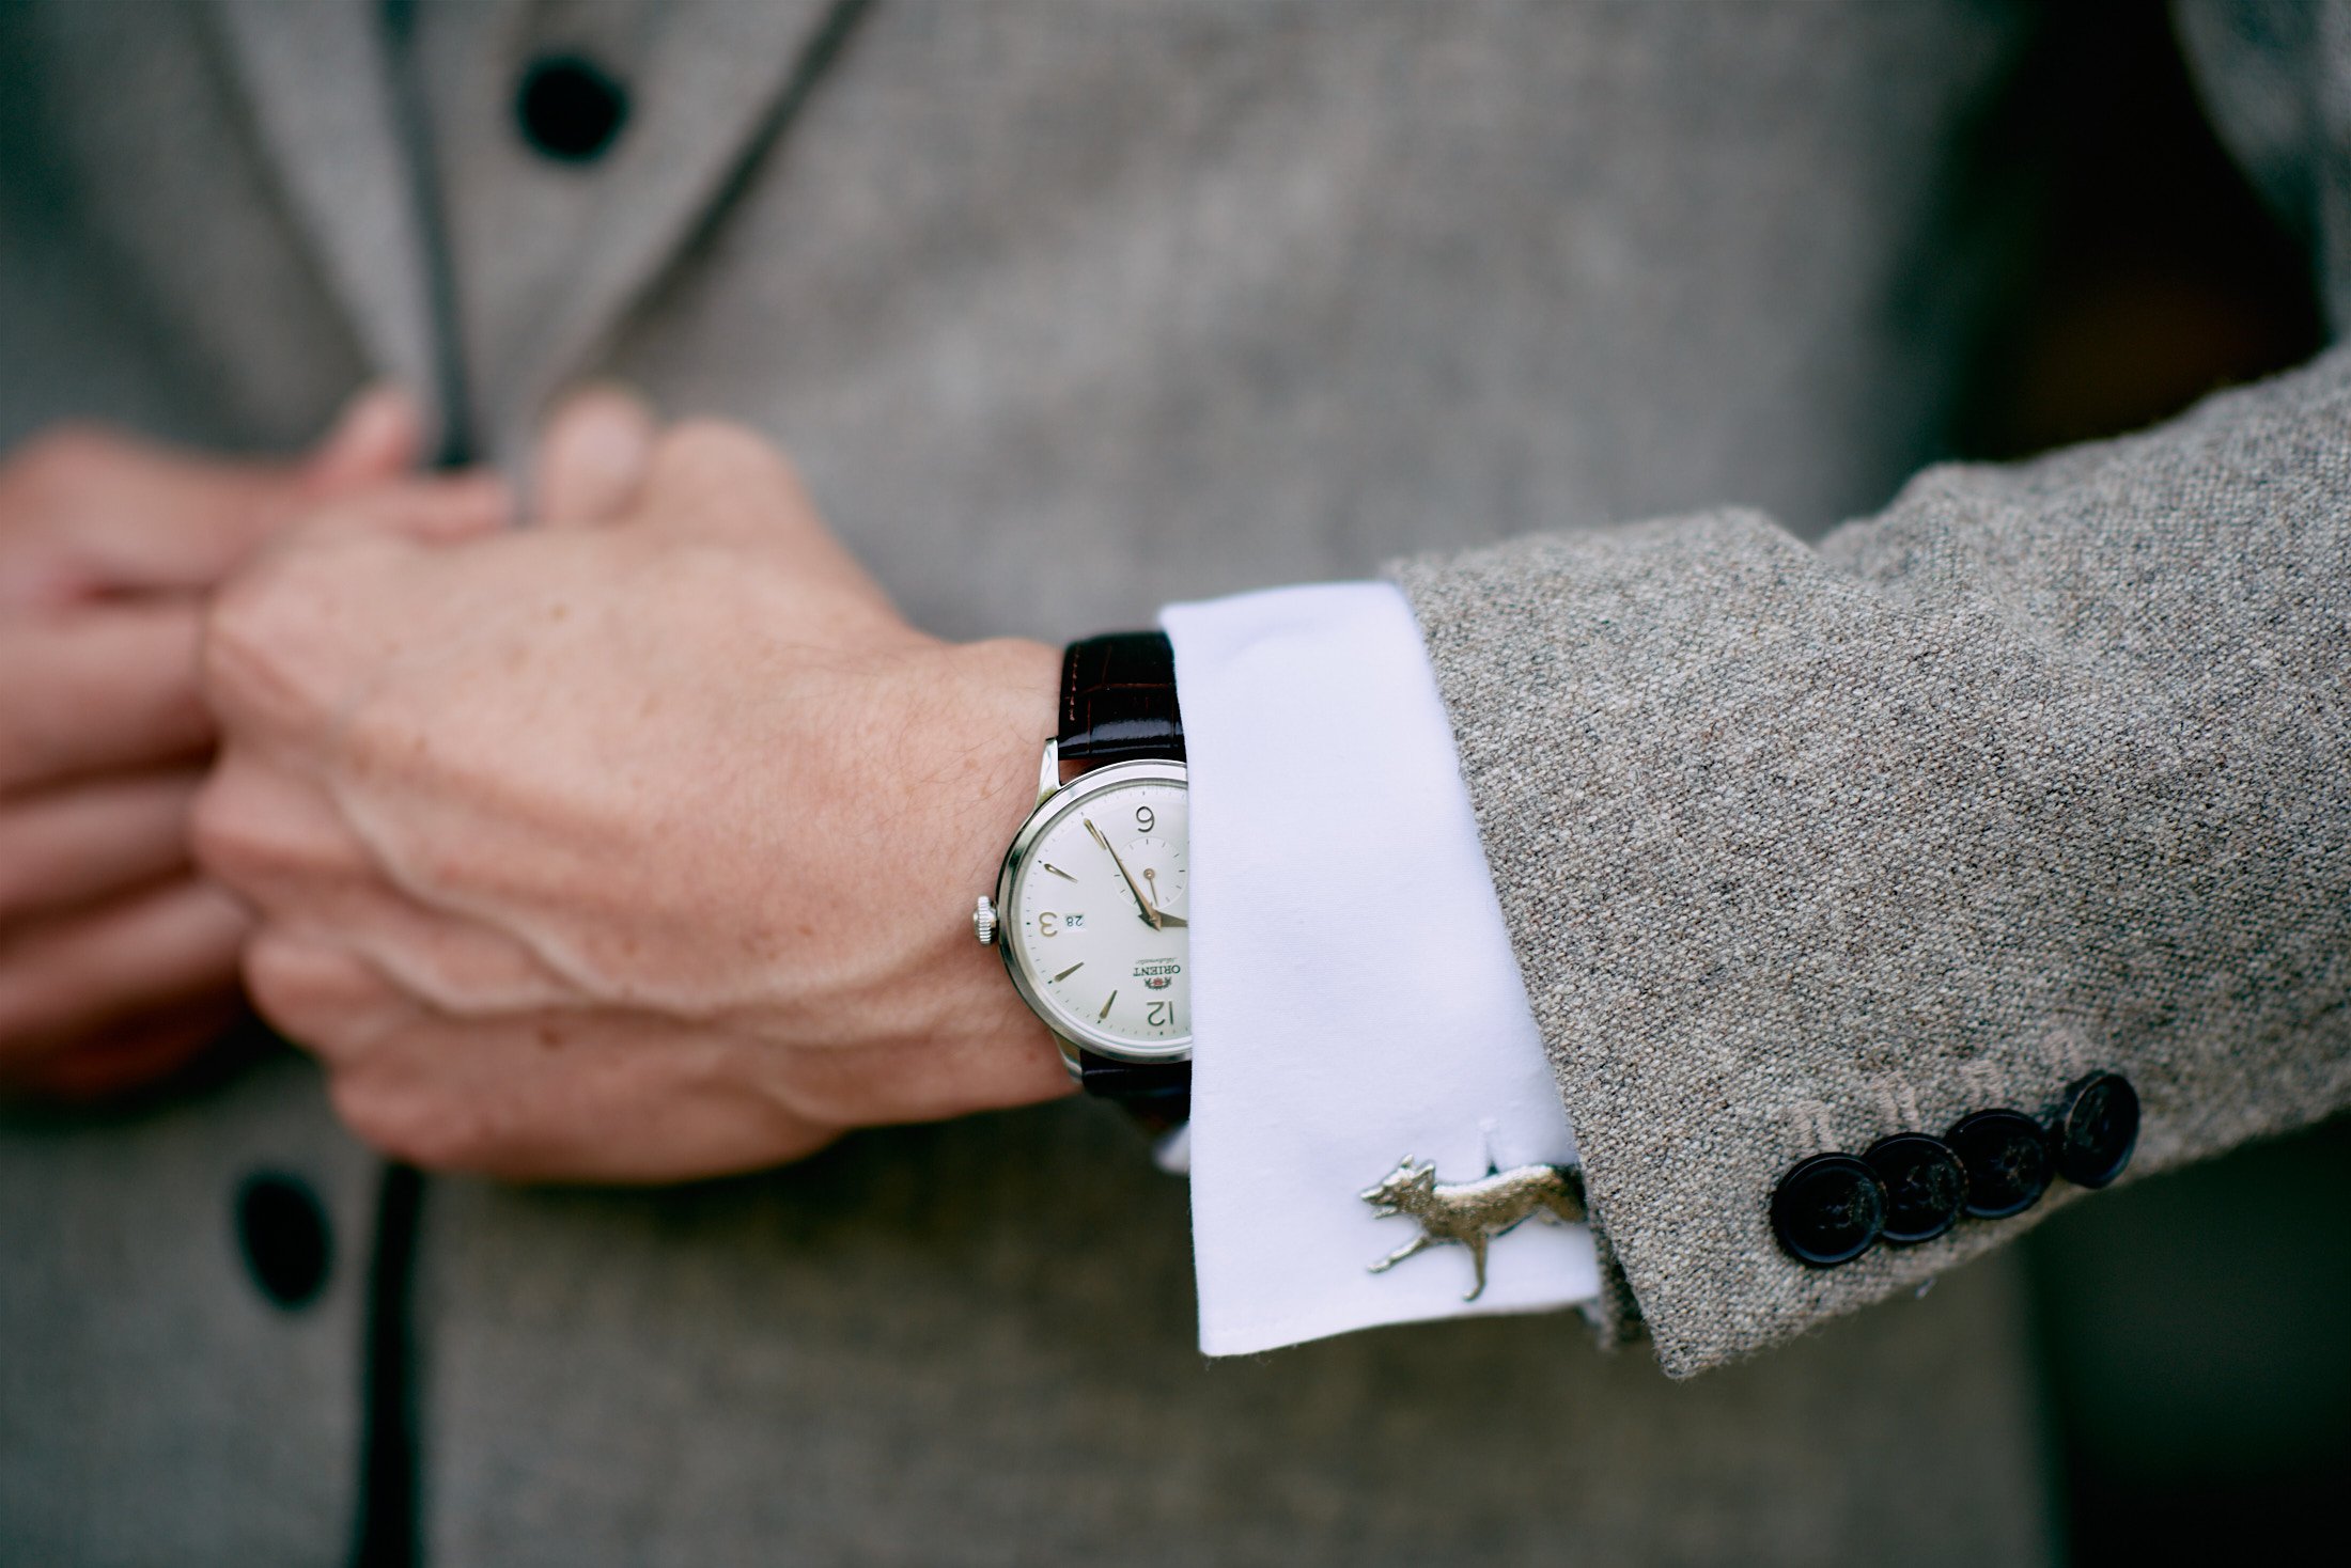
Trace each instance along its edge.
{"label": "whole gray tweed jacket worn by the person, body and sleeve", "polygon": [[[0,440],[289,449],[390,374],[513,461],[616,374],[785,442],[943,635],[1404,557],[1606,1338],[1820,1328],[1690,1382],[1573,1319],[1211,1366],[1183,1187],[1084,1105],[430,1180],[421,1561],[2048,1554],[2012,1262],[1956,1267],[2031,1215],[1820,1272],[1768,1194],[2088,1067],[2135,1171],[2342,1105],[2351,360],[1909,477],[2022,221],[1961,193],[2029,14],[404,9],[397,68],[376,5],[0,9]],[[2184,31],[2339,294],[2351,28],[2252,21]],[[517,125],[550,56],[628,89],[600,158]],[[247,1276],[256,1173],[322,1206],[315,1298]],[[0,1559],[353,1544],[379,1178],[287,1053],[0,1124]]]}

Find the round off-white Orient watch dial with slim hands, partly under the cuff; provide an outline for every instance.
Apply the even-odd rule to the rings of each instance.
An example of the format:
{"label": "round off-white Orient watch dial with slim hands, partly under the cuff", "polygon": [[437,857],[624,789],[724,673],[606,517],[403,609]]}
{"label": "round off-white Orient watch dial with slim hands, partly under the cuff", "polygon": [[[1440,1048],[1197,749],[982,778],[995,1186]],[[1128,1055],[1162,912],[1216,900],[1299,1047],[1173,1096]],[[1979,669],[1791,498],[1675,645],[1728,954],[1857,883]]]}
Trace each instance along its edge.
{"label": "round off-white Orient watch dial with slim hands, partly under the cuff", "polygon": [[1192,1046],[1183,764],[1098,769],[1013,844],[1004,957],[1046,1023],[1133,1060]]}

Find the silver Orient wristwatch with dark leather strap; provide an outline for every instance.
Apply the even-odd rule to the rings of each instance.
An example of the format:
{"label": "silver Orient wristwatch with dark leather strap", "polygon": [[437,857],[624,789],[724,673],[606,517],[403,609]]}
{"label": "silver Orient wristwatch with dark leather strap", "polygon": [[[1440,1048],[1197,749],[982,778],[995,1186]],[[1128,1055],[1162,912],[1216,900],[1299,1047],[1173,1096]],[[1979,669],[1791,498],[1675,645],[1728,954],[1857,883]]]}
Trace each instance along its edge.
{"label": "silver Orient wristwatch with dark leather strap", "polygon": [[1154,1131],[1192,1112],[1187,820],[1166,635],[1070,644],[1037,806],[971,933],[1004,954],[1070,1077]]}

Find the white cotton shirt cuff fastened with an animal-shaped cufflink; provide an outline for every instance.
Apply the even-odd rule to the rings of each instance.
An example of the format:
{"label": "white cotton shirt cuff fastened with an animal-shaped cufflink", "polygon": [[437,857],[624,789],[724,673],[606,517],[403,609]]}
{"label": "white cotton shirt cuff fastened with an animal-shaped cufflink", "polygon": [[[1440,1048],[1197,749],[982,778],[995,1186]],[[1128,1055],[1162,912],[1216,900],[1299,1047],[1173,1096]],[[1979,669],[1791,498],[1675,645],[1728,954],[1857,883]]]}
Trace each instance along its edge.
{"label": "white cotton shirt cuff fastened with an animal-shaped cufflink", "polygon": [[1199,1347],[1239,1356],[1375,1324],[1596,1295],[1585,1225],[1387,1274],[1418,1234],[1359,1197],[1406,1154],[1439,1180],[1573,1161],[1453,731],[1389,583],[1171,604],[1192,802],[1192,1251]]}

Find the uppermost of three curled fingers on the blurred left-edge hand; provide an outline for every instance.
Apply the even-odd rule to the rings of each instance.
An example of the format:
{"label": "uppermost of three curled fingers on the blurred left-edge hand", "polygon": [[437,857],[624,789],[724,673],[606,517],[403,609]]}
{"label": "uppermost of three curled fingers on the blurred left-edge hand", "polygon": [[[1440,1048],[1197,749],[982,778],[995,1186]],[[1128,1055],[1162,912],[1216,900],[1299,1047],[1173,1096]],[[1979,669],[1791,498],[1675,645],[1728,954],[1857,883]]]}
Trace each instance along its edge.
{"label": "uppermost of three curled fingers on the blurred left-edge hand", "polygon": [[176,762],[212,743],[188,599],[0,621],[0,792]]}

